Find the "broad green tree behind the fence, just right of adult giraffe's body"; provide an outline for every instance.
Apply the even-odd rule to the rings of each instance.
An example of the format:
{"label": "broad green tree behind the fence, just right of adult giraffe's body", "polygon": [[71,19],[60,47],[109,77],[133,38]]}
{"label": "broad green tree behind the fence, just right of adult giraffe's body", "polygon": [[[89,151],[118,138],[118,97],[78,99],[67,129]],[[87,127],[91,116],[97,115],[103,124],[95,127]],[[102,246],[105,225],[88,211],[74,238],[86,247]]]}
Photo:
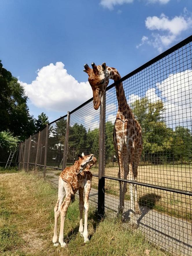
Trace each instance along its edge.
{"label": "broad green tree behind the fence, just right of adult giraffe's body", "polygon": [[173,130],[166,126],[163,119],[163,102],[151,102],[143,97],[136,100],[131,107],[142,128],[142,159],[153,163],[170,161]]}

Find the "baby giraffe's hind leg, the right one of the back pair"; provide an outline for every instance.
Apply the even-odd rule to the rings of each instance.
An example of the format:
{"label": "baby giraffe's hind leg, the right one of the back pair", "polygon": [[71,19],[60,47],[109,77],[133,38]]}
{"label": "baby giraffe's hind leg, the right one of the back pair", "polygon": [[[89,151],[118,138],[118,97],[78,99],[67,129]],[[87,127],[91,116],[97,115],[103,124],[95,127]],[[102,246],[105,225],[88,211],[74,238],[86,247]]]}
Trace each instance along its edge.
{"label": "baby giraffe's hind leg, the right one of the back pair", "polygon": [[65,200],[63,201],[62,205],[61,205],[61,209],[60,209],[60,213],[61,213],[61,224],[60,224],[60,233],[59,233],[59,242],[61,244],[61,247],[66,247],[66,243],[63,241],[63,229],[64,229],[64,221],[65,221],[65,216],[67,213],[67,209],[70,205],[71,202],[71,188],[70,185],[68,183],[64,182],[64,188],[66,191],[66,196],[65,196]]}

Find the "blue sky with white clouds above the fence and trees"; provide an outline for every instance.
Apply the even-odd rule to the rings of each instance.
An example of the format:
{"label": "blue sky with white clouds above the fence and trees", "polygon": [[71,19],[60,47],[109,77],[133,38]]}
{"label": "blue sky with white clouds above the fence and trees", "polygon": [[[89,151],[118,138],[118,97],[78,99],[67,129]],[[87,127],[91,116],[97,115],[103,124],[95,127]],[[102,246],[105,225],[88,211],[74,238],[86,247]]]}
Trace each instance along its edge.
{"label": "blue sky with white clouds above the fence and trees", "polygon": [[191,0],[0,1],[0,59],[30,114],[53,121],[91,97],[85,63],[124,76],[190,36],[191,12]]}

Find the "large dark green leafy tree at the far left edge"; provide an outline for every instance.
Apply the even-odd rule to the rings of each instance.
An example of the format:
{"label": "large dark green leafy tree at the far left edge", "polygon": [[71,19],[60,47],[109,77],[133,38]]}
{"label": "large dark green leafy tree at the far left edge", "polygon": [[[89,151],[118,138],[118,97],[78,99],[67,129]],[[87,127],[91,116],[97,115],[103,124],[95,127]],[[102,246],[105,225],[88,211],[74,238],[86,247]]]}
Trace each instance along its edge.
{"label": "large dark green leafy tree at the far left edge", "polygon": [[27,96],[18,79],[3,68],[0,60],[0,131],[10,130],[21,140],[35,132],[35,119],[29,115]]}

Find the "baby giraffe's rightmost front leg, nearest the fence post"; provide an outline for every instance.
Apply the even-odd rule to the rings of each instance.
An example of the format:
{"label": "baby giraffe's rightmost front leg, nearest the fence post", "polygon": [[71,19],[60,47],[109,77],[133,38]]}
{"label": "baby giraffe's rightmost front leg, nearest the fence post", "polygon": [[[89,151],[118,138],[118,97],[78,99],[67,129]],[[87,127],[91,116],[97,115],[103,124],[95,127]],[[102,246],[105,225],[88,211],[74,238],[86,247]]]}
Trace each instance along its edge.
{"label": "baby giraffe's rightmost front leg, nearest the fence post", "polygon": [[89,193],[91,191],[91,181],[87,181],[85,186],[85,202],[84,202],[84,211],[85,211],[85,220],[84,220],[84,243],[88,242],[88,231],[87,231],[87,218],[88,218],[88,210],[89,210]]}

